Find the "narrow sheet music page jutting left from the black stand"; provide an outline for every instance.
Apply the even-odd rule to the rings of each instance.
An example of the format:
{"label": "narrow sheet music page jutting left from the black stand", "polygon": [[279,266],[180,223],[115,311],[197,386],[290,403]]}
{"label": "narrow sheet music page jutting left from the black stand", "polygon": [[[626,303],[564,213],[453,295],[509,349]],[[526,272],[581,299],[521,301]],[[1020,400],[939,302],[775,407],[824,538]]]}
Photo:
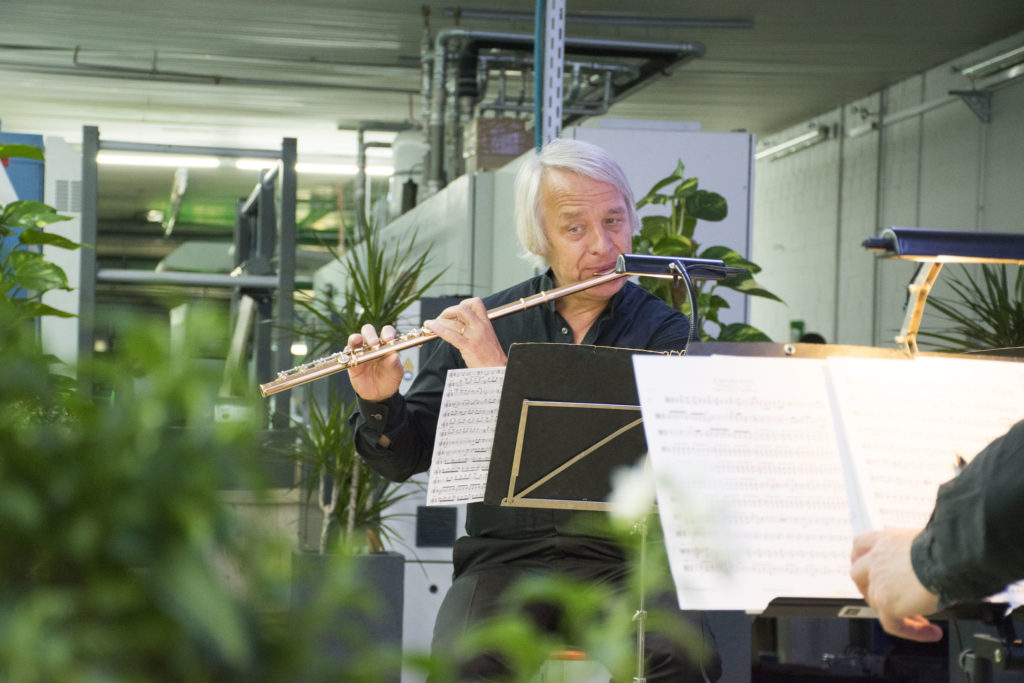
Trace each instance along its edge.
{"label": "narrow sheet music page jutting left from the black stand", "polygon": [[427,505],[483,500],[504,379],[504,368],[449,371],[427,481]]}

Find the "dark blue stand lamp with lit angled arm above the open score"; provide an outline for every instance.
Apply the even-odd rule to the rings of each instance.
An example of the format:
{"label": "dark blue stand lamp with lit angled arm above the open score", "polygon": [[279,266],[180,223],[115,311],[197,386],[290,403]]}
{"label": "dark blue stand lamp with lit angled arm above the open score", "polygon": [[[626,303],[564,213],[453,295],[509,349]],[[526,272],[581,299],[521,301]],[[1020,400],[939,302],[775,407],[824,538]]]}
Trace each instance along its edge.
{"label": "dark blue stand lamp with lit angled arm above the open score", "polygon": [[[921,266],[907,289],[903,325],[896,343],[903,351],[918,354],[918,330],[925,312],[925,303],[944,263],[1010,263],[1024,265],[1024,234],[1013,232],[969,232],[935,230],[922,227],[888,227],[876,238],[868,238],[863,247],[880,258],[918,261]],[[925,267],[927,264],[928,267]]]}

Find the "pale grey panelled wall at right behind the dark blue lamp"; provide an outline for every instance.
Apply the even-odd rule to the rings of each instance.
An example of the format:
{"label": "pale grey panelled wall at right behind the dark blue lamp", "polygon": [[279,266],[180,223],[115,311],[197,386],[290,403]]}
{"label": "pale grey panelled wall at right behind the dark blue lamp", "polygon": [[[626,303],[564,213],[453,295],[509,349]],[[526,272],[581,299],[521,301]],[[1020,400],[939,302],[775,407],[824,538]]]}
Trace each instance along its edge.
{"label": "pale grey panelled wall at right behind the dark blue lamp", "polygon": [[[1022,40],[1024,34],[1007,45]],[[760,280],[788,307],[755,301],[754,325],[780,340],[790,321],[803,319],[808,329],[831,331],[831,342],[892,347],[915,265],[876,260],[860,246],[866,237],[890,225],[1024,232],[1024,78],[991,90],[987,124],[949,94],[971,85],[951,63],[937,66],[847,103],[843,131],[857,134],[841,144],[829,140],[757,163],[752,258],[765,268]],[[880,113],[881,123],[865,127]],[[933,295],[948,292],[958,270],[947,268]],[[923,329],[937,319],[926,308]]]}

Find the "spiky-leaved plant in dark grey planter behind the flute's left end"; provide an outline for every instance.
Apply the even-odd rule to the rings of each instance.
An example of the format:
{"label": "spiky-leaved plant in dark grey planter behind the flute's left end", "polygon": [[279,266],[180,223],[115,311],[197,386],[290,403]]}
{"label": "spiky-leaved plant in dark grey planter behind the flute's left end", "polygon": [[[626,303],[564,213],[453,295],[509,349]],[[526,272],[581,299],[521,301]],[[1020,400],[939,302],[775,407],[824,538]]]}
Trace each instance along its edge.
{"label": "spiky-leaved plant in dark grey planter behind the flute's left end", "polygon": [[[394,323],[423,296],[441,273],[426,278],[429,249],[417,255],[415,236],[403,245],[386,242],[369,223],[362,240],[344,253],[332,252],[344,283],[341,291],[316,291],[300,299],[304,322],[292,328],[295,338],[309,343],[310,357],[319,357],[344,345],[348,335],[371,323],[380,328]],[[385,551],[391,541],[392,506],[415,493],[371,470],[355,452],[350,418],[356,409],[345,375],[340,388],[332,383],[310,385],[304,414],[296,427],[290,454],[302,466],[303,484],[322,512],[316,552],[293,556],[294,602],[302,608],[324,590],[332,555],[355,555],[356,572],[374,610],[356,615],[366,633],[378,643],[401,647],[404,557]],[[342,625],[353,621],[348,612],[336,615]],[[326,633],[322,647],[332,656],[349,658],[349,638]],[[394,663],[394,656],[381,660]],[[379,680],[397,680],[398,670],[379,673]]]}

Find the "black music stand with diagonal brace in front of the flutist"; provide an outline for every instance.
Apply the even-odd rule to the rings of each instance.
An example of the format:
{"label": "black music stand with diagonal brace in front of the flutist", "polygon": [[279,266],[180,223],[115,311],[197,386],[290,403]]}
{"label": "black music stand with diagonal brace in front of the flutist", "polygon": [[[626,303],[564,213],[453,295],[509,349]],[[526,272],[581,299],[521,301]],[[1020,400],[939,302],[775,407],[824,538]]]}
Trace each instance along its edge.
{"label": "black music stand with diagonal brace in front of the flutist", "polygon": [[[611,474],[647,453],[633,355],[654,351],[578,344],[513,344],[505,369],[483,502],[609,510]],[[571,377],[571,382],[565,378]],[[570,429],[566,429],[571,426]],[[644,670],[647,523],[640,538],[637,676]]]}

